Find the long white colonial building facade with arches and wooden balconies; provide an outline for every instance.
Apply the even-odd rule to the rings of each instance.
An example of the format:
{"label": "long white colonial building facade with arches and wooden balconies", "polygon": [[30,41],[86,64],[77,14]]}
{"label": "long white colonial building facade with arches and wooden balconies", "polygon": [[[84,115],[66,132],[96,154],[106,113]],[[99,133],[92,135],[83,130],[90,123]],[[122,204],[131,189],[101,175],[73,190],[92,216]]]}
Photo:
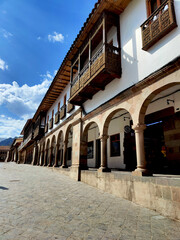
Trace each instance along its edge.
{"label": "long white colonial building facade with arches and wooden balconies", "polygon": [[85,182],[90,170],[179,174],[179,25],[178,0],[99,0],[23,129],[19,162]]}

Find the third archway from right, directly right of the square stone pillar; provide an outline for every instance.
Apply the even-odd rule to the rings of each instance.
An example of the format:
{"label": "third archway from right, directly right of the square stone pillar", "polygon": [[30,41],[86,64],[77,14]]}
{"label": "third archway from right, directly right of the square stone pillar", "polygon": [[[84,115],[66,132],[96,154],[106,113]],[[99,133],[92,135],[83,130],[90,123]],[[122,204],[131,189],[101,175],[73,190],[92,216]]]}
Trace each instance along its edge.
{"label": "third archway from right, directly right of the square stone pillar", "polygon": [[100,129],[95,121],[88,123],[82,134],[81,168],[100,167]]}

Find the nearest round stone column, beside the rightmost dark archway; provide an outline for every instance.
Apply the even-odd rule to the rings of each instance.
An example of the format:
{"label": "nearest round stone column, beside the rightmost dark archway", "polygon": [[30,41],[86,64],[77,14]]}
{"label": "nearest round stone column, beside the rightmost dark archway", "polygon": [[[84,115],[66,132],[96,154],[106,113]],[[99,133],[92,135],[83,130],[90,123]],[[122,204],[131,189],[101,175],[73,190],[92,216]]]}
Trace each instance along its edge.
{"label": "nearest round stone column, beside the rightmost dark archway", "polygon": [[146,169],[146,159],[144,151],[144,130],[146,129],[145,124],[137,124],[133,126],[135,131],[136,139],[136,158],[137,158],[137,168],[132,172],[132,175],[135,176],[147,176],[151,175],[150,172]]}

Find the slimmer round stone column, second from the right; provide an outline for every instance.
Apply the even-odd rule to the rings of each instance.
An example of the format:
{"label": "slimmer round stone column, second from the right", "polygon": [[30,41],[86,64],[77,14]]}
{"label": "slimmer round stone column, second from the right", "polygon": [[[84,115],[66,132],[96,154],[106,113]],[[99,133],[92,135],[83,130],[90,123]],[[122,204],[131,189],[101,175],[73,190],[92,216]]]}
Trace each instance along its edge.
{"label": "slimmer round stone column, second from the right", "polygon": [[110,171],[107,168],[107,135],[101,136],[101,167],[98,171],[100,172],[107,172]]}

